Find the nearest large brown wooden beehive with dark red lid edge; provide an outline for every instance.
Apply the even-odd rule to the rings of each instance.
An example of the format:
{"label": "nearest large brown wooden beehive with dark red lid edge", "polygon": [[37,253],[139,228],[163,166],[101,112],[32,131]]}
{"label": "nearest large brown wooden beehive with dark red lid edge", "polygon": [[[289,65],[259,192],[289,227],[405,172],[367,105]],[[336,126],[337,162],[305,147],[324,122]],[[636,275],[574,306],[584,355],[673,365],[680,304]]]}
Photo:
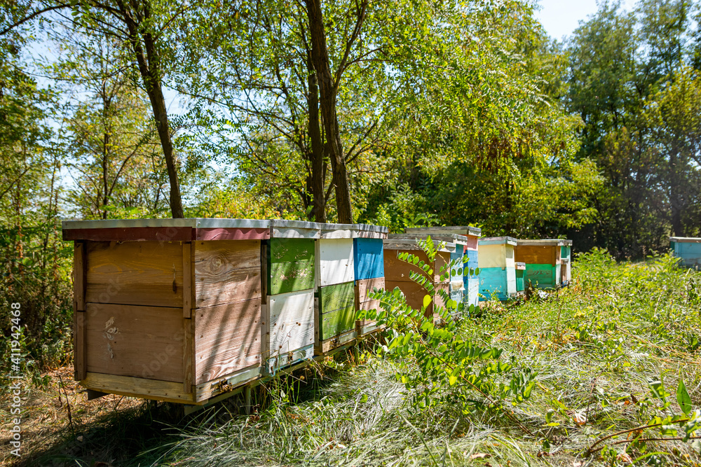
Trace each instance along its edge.
{"label": "nearest large brown wooden beehive with dark red lid edge", "polygon": [[65,221],[74,241],[75,379],[203,404],[259,377],[268,221]]}

